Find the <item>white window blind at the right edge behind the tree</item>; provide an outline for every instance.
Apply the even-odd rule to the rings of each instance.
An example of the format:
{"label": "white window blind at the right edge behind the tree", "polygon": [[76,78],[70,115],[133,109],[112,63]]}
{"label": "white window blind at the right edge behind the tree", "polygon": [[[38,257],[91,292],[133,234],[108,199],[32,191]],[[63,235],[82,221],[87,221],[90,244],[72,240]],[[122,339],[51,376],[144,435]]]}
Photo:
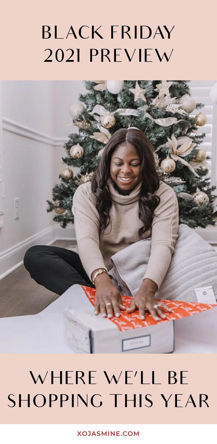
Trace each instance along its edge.
{"label": "white window blind at the right edge behind the tree", "polygon": [[207,115],[207,123],[203,127],[198,127],[198,134],[205,133],[205,138],[200,147],[207,152],[207,156],[211,159],[207,160],[209,166],[208,177],[212,178],[211,184],[215,183],[215,153],[216,153],[216,137],[215,131],[213,131],[213,116],[215,115],[213,102],[210,98],[210,91],[216,80],[191,80],[189,83],[191,96],[196,103],[203,103],[205,106],[202,109],[194,110],[191,115],[195,116],[200,111]]}

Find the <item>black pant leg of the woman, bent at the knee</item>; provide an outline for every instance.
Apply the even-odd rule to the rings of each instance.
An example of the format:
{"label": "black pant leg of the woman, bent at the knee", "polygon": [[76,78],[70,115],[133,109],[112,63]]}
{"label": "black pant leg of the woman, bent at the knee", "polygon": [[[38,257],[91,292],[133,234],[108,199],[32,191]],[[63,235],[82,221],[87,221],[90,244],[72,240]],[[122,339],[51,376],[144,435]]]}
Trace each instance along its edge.
{"label": "black pant leg of the woman, bent at the knee", "polygon": [[94,287],[79,255],[65,248],[33,246],[27,250],[23,264],[38,284],[59,295],[74,284]]}

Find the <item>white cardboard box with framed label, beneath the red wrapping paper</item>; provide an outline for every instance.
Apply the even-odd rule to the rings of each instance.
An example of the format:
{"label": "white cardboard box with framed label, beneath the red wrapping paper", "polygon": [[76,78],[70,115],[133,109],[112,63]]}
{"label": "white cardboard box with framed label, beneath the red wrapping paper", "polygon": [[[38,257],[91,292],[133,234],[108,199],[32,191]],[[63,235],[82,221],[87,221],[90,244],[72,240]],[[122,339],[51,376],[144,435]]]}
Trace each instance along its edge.
{"label": "white cardboard box with framed label, beneath the red wrapping paper", "polygon": [[64,310],[64,337],[74,353],[172,353],[174,321],[120,331],[111,320],[94,314],[85,293],[81,308]]}

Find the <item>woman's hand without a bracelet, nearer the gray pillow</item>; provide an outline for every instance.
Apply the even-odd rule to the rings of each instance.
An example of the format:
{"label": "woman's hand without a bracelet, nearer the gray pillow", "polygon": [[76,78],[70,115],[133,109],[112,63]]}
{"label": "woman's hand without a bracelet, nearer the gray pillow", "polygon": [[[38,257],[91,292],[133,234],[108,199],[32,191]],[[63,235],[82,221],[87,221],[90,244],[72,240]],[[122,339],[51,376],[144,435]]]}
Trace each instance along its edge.
{"label": "woman's hand without a bracelet, nearer the gray pillow", "polygon": [[150,279],[144,279],[143,283],[136,293],[136,296],[132,299],[128,313],[133,313],[136,309],[139,310],[140,318],[144,321],[146,310],[149,311],[155,321],[166,319],[166,314],[163,313],[162,308],[168,312],[172,310],[167,307],[163,302],[155,299],[155,292],[157,285]]}

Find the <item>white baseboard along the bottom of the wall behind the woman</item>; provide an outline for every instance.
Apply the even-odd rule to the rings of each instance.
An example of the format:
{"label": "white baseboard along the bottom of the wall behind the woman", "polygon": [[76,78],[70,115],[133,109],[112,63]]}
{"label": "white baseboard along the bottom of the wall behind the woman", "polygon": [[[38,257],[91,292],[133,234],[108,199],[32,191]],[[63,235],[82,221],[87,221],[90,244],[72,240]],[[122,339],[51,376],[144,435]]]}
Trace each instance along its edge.
{"label": "white baseboard along the bottom of the wall behind the woman", "polygon": [[[212,245],[217,245],[217,228],[197,228],[200,236]],[[51,245],[57,240],[76,240],[74,225],[62,228],[57,223],[43,231],[19,242],[15,246],[0,253],[0,280],[23,264],[24,254],[33,245]]]}

